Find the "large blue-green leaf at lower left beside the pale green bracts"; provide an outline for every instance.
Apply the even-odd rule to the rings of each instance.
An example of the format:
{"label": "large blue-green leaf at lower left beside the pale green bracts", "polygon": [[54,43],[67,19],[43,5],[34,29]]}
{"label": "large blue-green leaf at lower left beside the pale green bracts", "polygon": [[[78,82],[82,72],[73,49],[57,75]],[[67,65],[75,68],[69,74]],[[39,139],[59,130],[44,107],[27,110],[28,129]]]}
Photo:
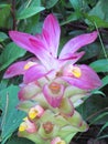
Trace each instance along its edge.
{"label": "large blue-green leaf at lower left beside the pale green bracts", "polygon": [[1,122],[1,138],[2,144],[11,136],[11,134],[18,128],[19,124],[24,117],[24,113],[17,110],[18,105],[18,86],[9,86],[0,92],[0,107],[2,110]]}

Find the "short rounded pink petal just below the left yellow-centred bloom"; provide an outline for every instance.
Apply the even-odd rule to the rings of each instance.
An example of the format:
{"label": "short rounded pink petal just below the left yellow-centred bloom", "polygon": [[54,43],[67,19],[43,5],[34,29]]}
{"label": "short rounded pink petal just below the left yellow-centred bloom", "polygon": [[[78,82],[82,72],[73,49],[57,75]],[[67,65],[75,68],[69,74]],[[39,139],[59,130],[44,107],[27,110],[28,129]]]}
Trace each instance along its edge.
{"label": "short rounded pink petal just below the left yellow-centred bloom", "polygon": [[46,73],[47,72],[43,65],[34,65],[25,72],[23,82],[28,84],[30,82],[36,81],[37,79],[45,76]]}

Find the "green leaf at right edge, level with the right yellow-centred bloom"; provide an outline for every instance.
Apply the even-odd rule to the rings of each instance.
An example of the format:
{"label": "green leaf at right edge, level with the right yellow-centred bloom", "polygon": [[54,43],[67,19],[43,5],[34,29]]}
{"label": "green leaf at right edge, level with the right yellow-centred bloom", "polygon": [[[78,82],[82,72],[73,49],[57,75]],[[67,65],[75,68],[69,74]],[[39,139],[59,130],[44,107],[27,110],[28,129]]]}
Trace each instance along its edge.
{"label": "green leaf at right edge, level with the right yellow-centred bloom", "polygon": [[90,63],[90,66],[96,72],[108,72],[108,60],[101,59],[101,60],[95,61],[95,62]]}

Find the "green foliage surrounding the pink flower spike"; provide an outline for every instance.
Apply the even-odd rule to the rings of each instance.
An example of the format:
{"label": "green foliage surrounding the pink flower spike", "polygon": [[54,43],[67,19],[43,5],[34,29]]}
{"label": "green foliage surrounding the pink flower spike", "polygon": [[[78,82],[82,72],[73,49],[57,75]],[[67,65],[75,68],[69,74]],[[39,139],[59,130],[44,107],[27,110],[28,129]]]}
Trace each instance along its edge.
{"label": "green foliage surrounding the pink flower spike", "polygon": [[[60,51],[62,45],[80,33],[97,30],[98,39],[83,50],[85,56],[79,63],[89,64],[102,81],[102,86],[80,106],[82,115],[90,124],[108,127],[108,0],[0,0],[0,141],[1,144],[32,144],[18,138],[17,128],[24,116],[15,106],[18,84],[21,78],[3,80],[7,68],[18,60],[25,60],[31,54],[11,42],[9,30],[19,30],[35,34],[41,32],[42,23],[48,13],[54,13],[62,28]],[[98,117],[98,119],[97,119]]]}

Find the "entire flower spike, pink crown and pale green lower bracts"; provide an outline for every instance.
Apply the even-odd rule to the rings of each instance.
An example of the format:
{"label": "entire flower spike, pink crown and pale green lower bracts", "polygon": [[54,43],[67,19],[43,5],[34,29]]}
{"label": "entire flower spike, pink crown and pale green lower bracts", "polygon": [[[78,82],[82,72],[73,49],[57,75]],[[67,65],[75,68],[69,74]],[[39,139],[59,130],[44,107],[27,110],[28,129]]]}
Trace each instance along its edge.
{"label": "entire flower spike, pink crown and pale green lower bracts", "polygon": [[77,132],[88,128],[75,107],[101,85],[94,70],[75,64],[85,53],[77,51],[94,42],[97,32],[69,40],[60,54],[61,29],[53,14],[46,17],[41,34],[18,31],[9,34],[18,45],[35,55],[13,63],[4,73],[6,79],[23,75],[18,109],[26,117],[19,126],[19,136],[36,144],[68,144]]}

